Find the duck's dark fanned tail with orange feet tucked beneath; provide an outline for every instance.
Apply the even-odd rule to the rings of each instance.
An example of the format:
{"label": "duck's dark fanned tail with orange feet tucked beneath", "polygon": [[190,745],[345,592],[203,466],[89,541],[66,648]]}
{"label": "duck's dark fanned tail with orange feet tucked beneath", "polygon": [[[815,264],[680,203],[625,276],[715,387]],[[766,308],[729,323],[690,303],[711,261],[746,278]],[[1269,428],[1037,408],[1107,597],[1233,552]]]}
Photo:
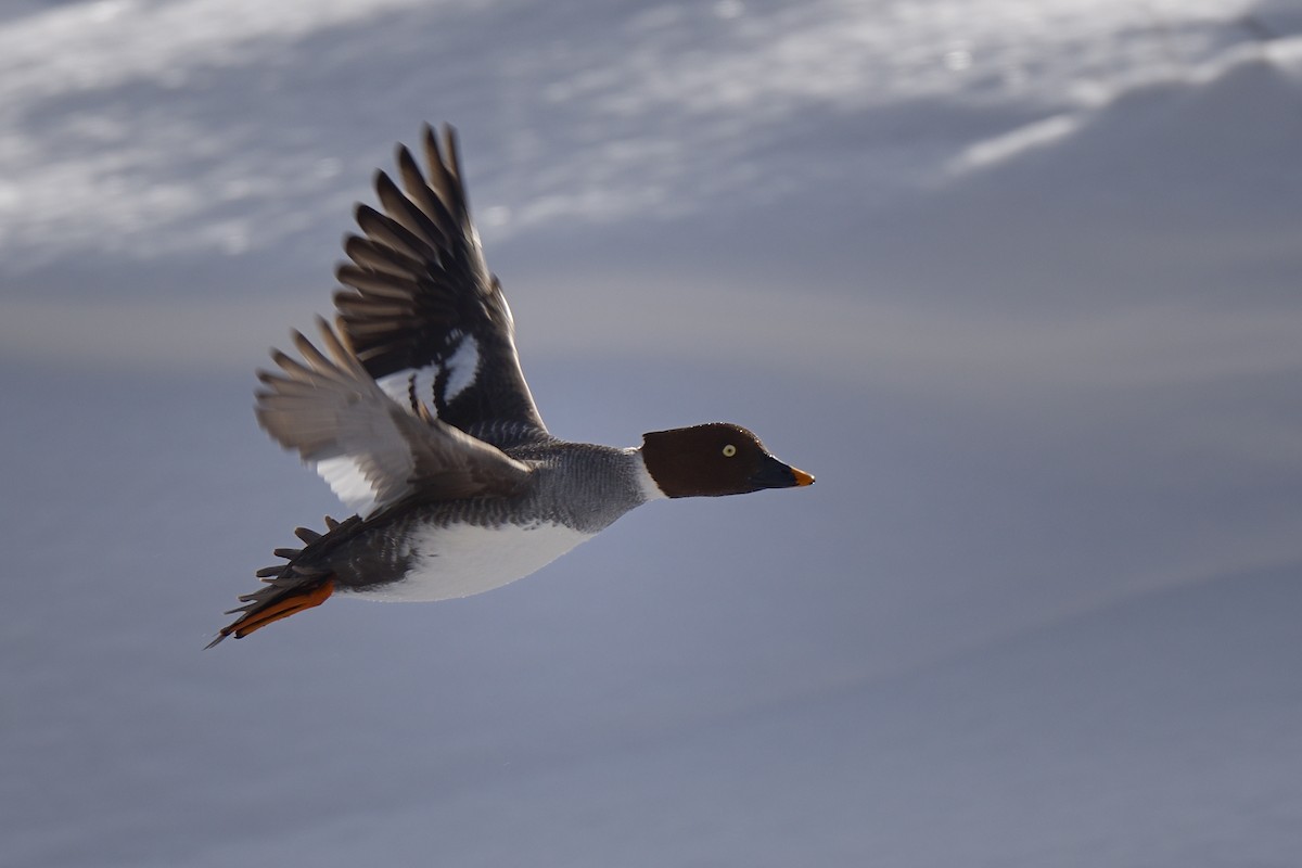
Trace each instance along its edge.
{"label": "duck's dark fanned tail with orange feet tucked beneath", "polygon": [[318,556],[327,548],[332,548],[339,536],[348,535],[361,521],[354,515],[346,522],[336,522],[327,515],[326,534],[306,527],[294,528],[294,535],[303,541],[303,548],[275,550],[276,557],[286,558],[286,562],[258,570],[258,578],[267,583],[266,587],[240,597],[243,605],[227,612],[227,614],[238,613],[240,617],[223,627],[208,643],[208,648],[227,636],[243,639],[268,623],[326,603],[335,592],[335,574],[314,561],[318,561]]}

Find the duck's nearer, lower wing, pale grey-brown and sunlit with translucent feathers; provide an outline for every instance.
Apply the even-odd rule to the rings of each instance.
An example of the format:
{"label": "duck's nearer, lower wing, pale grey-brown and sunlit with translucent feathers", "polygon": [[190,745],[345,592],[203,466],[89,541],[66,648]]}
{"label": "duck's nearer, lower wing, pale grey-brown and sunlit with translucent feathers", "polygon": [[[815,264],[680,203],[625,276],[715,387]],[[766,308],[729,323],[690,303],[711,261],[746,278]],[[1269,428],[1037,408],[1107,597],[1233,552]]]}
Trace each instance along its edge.
{"label": "duck's nearer, lower wing, pale grey-brown and sunlit with translucent feathers", "polygon": [[275,350],[281,372],[260,371],[258,422],[280,445],[315,465],[349,508],[366,515],[421,487],[453,500],[517,491],[530,468],[470,435],[395,402],[362,367],[346,338],[318,321],[329,357],[294,332],[298,362]]}

